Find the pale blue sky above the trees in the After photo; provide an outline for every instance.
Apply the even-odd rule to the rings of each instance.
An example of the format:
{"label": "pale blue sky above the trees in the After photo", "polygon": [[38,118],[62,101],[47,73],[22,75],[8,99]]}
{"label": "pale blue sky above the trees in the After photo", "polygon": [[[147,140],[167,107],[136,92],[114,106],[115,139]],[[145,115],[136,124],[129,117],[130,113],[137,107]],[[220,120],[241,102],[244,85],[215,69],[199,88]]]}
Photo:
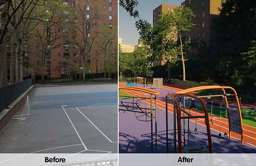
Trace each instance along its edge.
{"label": "pale blue sky above the trees in the After photo", "polygon": [[[153,9],[157,8],[161,4],[177,5],[180,6],[185,0],[138,0],[139,5],[137,10],[139,11],[140,18],[152,23]],[[119,6],[119,38],[122,38],[122,44],[131,44],[135,46],[138,44],[139,33],[135,28],[135,20],[130,17],[126,11]]]}

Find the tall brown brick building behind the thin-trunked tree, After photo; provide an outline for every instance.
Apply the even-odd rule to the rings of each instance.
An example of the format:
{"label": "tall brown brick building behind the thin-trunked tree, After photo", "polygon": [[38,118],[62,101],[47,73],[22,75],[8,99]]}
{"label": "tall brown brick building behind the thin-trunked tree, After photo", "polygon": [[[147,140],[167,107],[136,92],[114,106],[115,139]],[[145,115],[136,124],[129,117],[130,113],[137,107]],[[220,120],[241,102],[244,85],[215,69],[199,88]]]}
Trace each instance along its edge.
{"label": "tall brown brick building behind the thin-trunked tree, After photo", "polygon": [[204,40],[207,43],[212,53],[214,52],[216,34],[212,28],[212,20],[219,16],[218,9],[221,8],[222,3],[224,0],[185,0],[181,3],[182,6],[189,7],[196,15],[192,19],[196,26],[191,31],[184,33],[185,41],[199,38],[199,40]]}

